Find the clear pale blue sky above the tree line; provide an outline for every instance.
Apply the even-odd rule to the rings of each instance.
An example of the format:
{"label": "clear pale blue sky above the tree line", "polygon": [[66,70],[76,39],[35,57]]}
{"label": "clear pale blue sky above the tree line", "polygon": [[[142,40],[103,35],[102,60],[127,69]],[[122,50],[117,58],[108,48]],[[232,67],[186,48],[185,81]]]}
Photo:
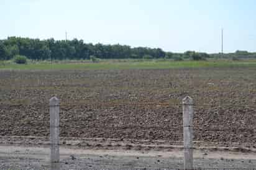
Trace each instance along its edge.
{"label": "clear pale blue sky above the tree line", "polygon": [[85,42],[217,53],[256,51],[255,0],[1,0],[0,38]]}

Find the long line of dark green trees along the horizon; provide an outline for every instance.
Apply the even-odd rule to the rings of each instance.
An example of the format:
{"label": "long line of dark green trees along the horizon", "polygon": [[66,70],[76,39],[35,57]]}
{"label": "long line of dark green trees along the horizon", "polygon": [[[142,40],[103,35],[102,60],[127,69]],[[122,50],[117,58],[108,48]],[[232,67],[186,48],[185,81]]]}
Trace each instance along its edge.
{"label": "long line of dark green trees along the horizon", "polygon": [[161,48],[130,47],[129,45],[103,45],[85,43],[83,40],[40,40],[38,38],[8,37],[0,40],[0,60],[11,60],[15,55],[24,55],[30,60],[88,60],[91,56],[99,59],[124,58],[173,58],[174,60],[204,58],[256,58],[256,53],[235,51],[228,54],[207,54],[195,51],[171,53]]}

